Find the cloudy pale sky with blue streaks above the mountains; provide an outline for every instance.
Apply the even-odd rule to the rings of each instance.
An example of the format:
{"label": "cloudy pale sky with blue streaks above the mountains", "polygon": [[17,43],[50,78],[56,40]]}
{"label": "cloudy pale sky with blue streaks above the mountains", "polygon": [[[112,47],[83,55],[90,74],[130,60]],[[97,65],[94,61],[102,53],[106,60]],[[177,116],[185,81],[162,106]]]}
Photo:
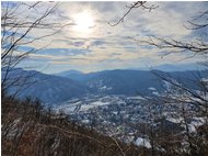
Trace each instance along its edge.
{"label": "cloudy pale sky with blue streaks above the mountains", "polygon": [[[2,2],[1,10],[8,3]],[[34,21],[55,2],[9,2],[11,9],[18,9],[16,18]],[[200,31],[186,29],[198,13],[208,8],[207,2],[148,2],[158,8],[148,11],[140,8],[131,10],[124,22],[115,24],[127,11],[131,2],[59,2],[45,23],[65,25],[56,34],[31,44],[20,45],[16,53],[38,49],[19,64],[26,69],[36,69],[46,74],[63,70],[83,73],[106,69],[151,68],[164,64],[187,65],[201,62],[204,56],[192,53],[172,53],[139,41],[149,36],[193,41],[201,35]],[[27,18],[25,18],[27,16]],[[20,34],[24,30],[20,30]],[[25,41],[50,34],[57,29],[34,29]],[[204,30],[207,31],[207,30]],[[11,32],[8,32],[10,34]]]}

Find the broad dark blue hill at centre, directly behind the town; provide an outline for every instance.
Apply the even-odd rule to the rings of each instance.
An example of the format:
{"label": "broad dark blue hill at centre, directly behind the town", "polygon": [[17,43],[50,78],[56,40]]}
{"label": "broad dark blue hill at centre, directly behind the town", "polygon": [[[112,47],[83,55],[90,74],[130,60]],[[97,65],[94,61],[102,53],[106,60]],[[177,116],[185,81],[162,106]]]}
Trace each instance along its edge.
{"label": "broad dark blue hill at centre, directly behind the town", "polygon": [[150,71],[108,70],[86,80],[90,88],[112,94],[149,93],[149,88],[161,90],[161,83]]}

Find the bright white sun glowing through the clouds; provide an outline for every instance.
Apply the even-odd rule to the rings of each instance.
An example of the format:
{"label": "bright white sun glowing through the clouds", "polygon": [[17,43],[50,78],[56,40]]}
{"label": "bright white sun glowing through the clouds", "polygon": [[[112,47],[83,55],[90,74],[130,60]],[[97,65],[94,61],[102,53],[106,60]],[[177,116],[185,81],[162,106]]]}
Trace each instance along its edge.
{"label": "bright white sun glowing through the clouds", "polygon": [[73,16],[74,31],[79,33],[90,33],[94,26],[94,19],[90,12],[81,12]]}

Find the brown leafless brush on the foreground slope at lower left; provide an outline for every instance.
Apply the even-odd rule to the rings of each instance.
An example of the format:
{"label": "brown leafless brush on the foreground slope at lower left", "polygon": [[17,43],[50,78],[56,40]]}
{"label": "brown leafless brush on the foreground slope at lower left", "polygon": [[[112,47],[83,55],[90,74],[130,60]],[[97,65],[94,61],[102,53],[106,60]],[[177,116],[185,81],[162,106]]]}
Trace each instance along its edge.
{"label": "brown leafless brush on the foreground slope at lower left", "polygon": [[137,146],[124,144],[43,109],[38,101],[2,94],[2,155],[4,156],[134,156]]}

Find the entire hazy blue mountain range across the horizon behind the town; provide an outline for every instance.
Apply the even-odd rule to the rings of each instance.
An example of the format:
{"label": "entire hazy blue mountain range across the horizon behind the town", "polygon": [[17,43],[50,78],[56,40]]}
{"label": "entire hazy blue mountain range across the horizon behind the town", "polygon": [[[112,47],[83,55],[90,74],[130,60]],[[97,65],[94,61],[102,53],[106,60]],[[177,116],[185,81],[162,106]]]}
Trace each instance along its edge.
{"label": "entire hazy blue mountain range across the horizon behind the town", "polygon": [[[22,73],[22,74],[21,74]],[[180,79],[187,87],[197,89],[193,80],[208,78],[207,71],[188,70],[164,73],[154,70],[160,75],[171,75]],[[97,73],[83,74],[77,70],[63,71],[56,75],[45,75],[38,71],[26,71],[19,69],[19,75],[31,75],[36,82],[24,89],[19,97],[38,98],[46,103],[58,103],[71,98],[79,98],[85,94],[150,94],[161,92],[164,88],[158,76],[150,70],[104,70]],[[199,75],[200,74],[200,75]],[[13,76],[16,75],[13,74]],[[12,76],[12,77],[13,77]],[[13,89],[10,89],[12,92]]]}

